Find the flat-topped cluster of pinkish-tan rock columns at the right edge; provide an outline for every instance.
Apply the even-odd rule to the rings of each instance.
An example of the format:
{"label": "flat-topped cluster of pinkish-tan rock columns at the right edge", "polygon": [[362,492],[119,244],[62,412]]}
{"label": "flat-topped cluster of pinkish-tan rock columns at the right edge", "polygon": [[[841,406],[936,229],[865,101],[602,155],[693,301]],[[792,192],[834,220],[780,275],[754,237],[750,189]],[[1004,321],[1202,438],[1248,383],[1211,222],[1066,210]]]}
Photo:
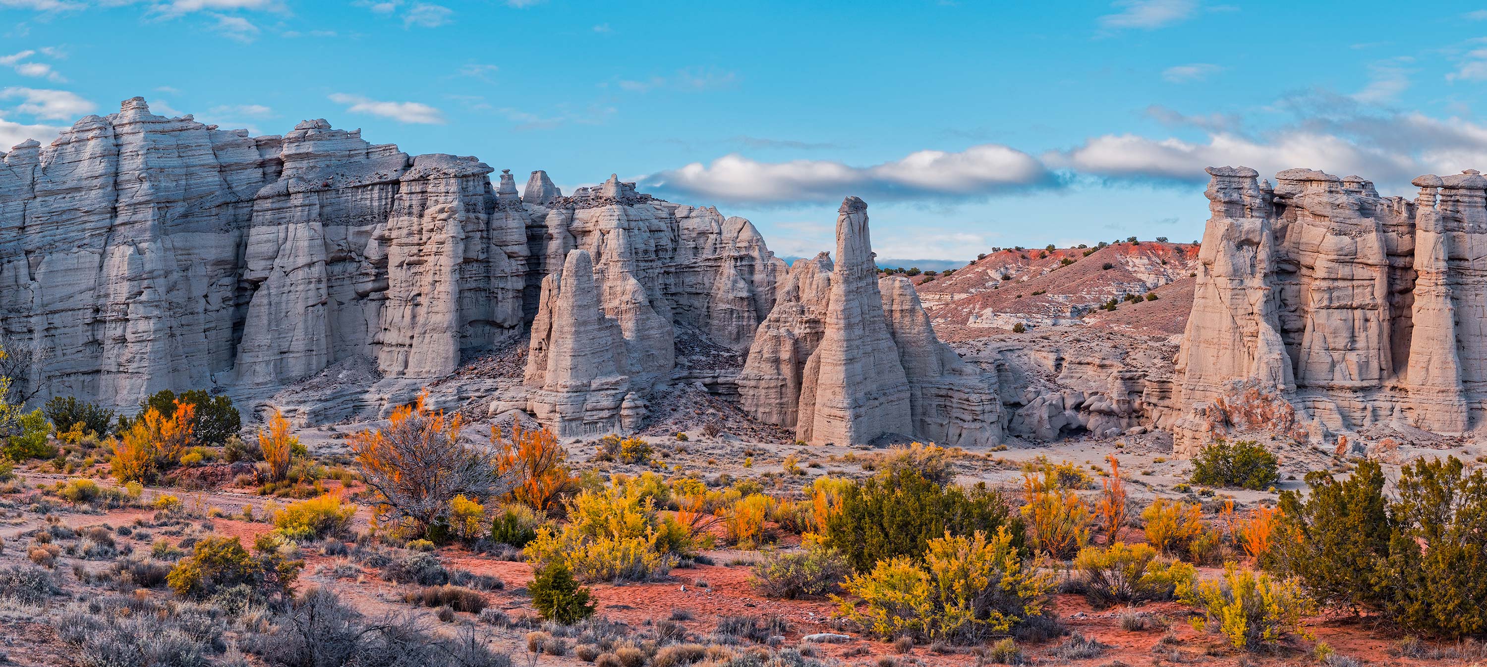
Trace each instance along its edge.
{"label": "flat-topped cluster of pinkish-tan rock columns at the right edge", "polygon": [[[1383,198],[1362,177],[1210,168],[1193,315],[1178,357],[1176,449],[1240,423],[1236,392],[1270,392],[1312,434],[1405,423],[1460,434],[1487,398],[1487,178],[1414,180]],[[1257,389],[1258,388],[1258,389]],[[1254,411],[1254,410],[1251,410]],[[1222,413],[1222,414],[1221,414]]]}

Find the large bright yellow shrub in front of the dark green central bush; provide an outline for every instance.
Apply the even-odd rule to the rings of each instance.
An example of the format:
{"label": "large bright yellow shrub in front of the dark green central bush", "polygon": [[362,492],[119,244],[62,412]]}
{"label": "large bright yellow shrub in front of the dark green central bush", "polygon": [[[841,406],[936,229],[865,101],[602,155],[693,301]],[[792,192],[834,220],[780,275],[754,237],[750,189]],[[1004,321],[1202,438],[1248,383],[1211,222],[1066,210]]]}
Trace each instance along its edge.
{"label": "large bright yellow shrub in front of the dark green central bush", "polygon": [[987,539],[931,539],[925,564],[907,557],[877,563],[842,585],[839,614],[879,637],[981,642],[1042,615],[1053,576],[1023,563],[1005,526]]}

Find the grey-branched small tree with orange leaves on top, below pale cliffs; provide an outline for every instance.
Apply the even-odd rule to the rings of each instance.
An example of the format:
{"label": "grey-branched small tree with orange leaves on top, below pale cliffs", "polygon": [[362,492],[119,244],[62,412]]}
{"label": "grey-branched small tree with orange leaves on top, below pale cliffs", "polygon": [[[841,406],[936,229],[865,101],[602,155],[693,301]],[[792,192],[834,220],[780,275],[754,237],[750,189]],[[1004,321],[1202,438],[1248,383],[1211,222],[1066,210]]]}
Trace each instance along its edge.
{"label": "grey-branched small tree with orange leaves on top, below pale cliffs", "polygon": [[459,416],[424,407],[427,395],[393,410],[388,425],[351,437],[351,452],[366,484],[376,495],[379,523],[427,535],[449,515],[449,502],[464,495],[476,501],[510,492],[510,472],[500,455],[459,441]]}

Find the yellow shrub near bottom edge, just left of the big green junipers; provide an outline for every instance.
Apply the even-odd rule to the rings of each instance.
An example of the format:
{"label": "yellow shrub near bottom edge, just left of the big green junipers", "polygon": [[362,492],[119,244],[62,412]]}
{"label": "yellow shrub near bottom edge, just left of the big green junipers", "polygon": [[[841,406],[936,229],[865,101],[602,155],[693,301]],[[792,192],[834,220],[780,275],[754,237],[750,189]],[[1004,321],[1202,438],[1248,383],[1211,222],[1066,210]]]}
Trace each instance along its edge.
{"label": "yellow shrub near bottom edge, just left of the big green junipers", "polygon": [[1309,637],[1301,618],[1316,611],[1295,579],[1274,579],[1233,563],[1224,567],[1222,581],[1182,582],[1178,597],[1201,609],[1209,628],[1242,649],[1273,646],[1286,634]]}

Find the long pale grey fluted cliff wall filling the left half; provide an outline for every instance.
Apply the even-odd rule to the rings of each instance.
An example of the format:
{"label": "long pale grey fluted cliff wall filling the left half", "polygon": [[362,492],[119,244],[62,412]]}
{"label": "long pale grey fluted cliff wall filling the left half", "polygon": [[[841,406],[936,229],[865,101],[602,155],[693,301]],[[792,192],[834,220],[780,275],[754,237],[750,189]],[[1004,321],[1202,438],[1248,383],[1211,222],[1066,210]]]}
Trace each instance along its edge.
{"label": "long pale grey fluted cliff wall filling the left half", "polygon": [[[540,171],[522,193],[491,172],[326,120],[250,137],[128,100],[48,147],[0,153],[3,345],[31,359],[18,380],[37,400],[119,409],[190,388],[253,403],[342,362],[418,386],[556,306],[567,291],[544,278],[584,264],[581,250],[625,348],[608,354],[639,389],[614,410],[638,417],[644,389],[671,380],[674,321],[742,351],[773,308],[785,264],[748,220],[613,177],[564,196]],[[538,385],[574,394],[581,376]],[[546,406],[565,429],[598,423],[572,417],[572,400]]]}

